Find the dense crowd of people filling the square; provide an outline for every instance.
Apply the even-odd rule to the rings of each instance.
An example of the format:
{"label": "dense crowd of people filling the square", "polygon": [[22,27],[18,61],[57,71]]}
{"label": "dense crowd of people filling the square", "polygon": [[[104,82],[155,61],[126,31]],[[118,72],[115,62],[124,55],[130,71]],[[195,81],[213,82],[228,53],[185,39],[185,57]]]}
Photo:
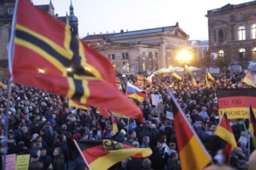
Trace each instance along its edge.
{"label": "dense crowd of people filling the square", "polygon": [[[104,118],[97,108],[72,108],[67,98],[14,83],[11,85],[7,116],[8,92],[0,88],[0,154],[3,155],[4,130],[8,128],[8,154],[30,154],[29,169],[68,169],[69,161],[74,160],[75,169],[84,170],[87,165],[73,140],[101,139],[152,149],[152,155],[148,158],[128,158],[110,169],[181,169],[177,149],[179,144],[173,126],[175,122],[166,117],[166,112],[172,112],[171,96],[166,90],[169,87],[200,141],[211,154],[212,164],[217,167],[226,165],[230,169],[247,169],[249,159],[253,159],[249,153],[254,150],[252,140],[248,141],[248,120],[230,121],[238,145],[231,151],[230,166],[227,166],[221,150],[226,143],[214,134],[219,124],[217,90],[252,88],[241,82],[244,75],[226,70],[225,73],[213,75],[215,81],[210,82],[210,87],[205,84],[204,74],[184,75],[182,81],[172,75],[153,76],[152,86],[140,87],[147,94],[145,100],[134,100],[142,110],[145,121],[116,117],[117,134],[112,129],[111,118]],[[120,79],[120,91],[125,95],[126,82],[136,82],[136,76]],[[6,80],[2,82],[7,83]],[[152,94],[161,98],[158,106],[152,105]],[[7,119],[8,127],[5,124]],[[248,145],[249,142],[251,145]],[[256,165],[252,166],[256,168]]]}

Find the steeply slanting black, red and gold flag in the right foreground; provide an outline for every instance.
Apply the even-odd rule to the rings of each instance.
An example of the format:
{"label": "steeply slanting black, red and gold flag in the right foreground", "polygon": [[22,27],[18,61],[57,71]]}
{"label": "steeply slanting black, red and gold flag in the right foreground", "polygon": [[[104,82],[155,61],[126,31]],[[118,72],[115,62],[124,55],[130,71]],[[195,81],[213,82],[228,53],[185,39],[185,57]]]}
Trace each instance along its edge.
{"label": "steeply slanting black, red and gold flag in the right foreground", "polygon": [[211,162],[211,156],[207,153],[205,146],[201,143],[191,124],[187,121],[183,110],[180,108],[170,89],[168,89],[168,92],[172,98],[174,128],[181,168],[183,170],[204,169]]}

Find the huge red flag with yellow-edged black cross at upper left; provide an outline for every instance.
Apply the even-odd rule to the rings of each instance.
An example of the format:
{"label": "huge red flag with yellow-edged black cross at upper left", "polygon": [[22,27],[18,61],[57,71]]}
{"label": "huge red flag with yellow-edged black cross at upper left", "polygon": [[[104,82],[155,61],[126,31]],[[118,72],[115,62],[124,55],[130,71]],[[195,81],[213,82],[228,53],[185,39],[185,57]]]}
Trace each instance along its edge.
{"label": "huge red flag with yellow-edged black cross at upper left", "polygon": [[10,82],[143,121],[138,106],[116,88],[111,62],[72,34],[69,25],[27,0],[17,1],[12,21]]}

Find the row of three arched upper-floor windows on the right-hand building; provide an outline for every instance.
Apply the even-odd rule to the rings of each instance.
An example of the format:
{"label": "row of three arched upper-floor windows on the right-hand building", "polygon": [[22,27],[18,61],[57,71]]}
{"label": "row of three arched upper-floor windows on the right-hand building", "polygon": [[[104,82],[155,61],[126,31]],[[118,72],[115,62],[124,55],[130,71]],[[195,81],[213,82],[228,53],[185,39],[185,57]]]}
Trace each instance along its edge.
{"label": "row of three arched upper-floor windows on the right-hand building", "polygon": [[[251,39],[256,39],[256,23],[251,26]],[[244,26],[239,26],[238,28],[238,40],[246,40],[246,28]],[[223,29],[218,30],[218,42],[224,42],[224,31]]]}

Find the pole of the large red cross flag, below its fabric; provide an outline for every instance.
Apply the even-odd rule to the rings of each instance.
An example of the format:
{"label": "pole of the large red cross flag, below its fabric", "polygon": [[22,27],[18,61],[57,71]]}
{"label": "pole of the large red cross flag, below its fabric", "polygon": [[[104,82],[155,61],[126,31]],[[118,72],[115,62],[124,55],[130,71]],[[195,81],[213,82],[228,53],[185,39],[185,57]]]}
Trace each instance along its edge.
{"label": "pole of the large red cross flag, below its fabric", "polygon": [[9,108],[10,108],[10,91],[11,91],[11,82],[8,81],[8,87],[7,87],[7,91],[8,91],[8,98],[7,98],[7,105],[6,105],[6,108],[5,108],[5,128],[4,128],[4,142],[3,142],[3,166],[5,169],[5,163],[6,163],[6,155],[8,154],[8,144],[7,144],[7,141],[8,141],[8,132],[9,132]]}

